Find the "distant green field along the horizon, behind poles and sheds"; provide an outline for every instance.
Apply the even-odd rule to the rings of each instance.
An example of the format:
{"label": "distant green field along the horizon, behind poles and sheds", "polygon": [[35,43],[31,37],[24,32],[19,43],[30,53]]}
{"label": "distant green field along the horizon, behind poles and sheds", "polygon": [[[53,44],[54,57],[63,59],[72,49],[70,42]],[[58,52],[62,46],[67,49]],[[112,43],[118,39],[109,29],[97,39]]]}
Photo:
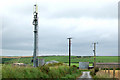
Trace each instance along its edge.
{"label": "distant green field along the horizon, behind poles and sheds", "polygon": [[[68,56],[41,56],[39,59],[44,59],[45,62],[51,61],[51,60],[56,60],[59,62],[65,62],[68,64],[69,57]],[[15,63],[15,62],[20,62],[20,63],[25,63],[32,65],[31,63],[32,57],[3,57],[2,58],[2,63]],[[71,56],[71,65],[76,65],[79,66],[79,62],[90,62],[89,66],[92,66],[92,63],[94,62],[94,57],[93,56]],[[97,56],[96,57],[96,62],[98,63],[112,63],[112,62],[118,62],[118,56]]]}

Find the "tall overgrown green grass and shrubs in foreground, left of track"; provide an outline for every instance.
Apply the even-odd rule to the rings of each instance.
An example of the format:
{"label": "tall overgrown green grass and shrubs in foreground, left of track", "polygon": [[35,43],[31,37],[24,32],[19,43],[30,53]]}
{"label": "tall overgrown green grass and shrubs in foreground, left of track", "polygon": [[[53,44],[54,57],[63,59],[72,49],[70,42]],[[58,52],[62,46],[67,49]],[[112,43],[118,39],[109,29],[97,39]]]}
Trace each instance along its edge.
{"label": "tall overgrown green grass and shrubs in foreground, left of track", "polygon": [[52,68],[50,65],[42,67],[20,67],[13,65],[3,64],[2,66],[2,78],[76,78],[81,75],[81,71],[77,67],[69,67],[67,65],[59,65],[56,68],[56,64]]}

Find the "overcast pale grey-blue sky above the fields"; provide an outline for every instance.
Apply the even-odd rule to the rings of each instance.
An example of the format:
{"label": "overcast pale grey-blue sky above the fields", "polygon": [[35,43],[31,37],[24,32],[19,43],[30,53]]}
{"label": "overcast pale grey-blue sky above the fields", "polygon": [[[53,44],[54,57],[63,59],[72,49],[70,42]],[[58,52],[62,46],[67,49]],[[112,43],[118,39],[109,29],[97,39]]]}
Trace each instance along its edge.
{"label": "overcast pale grey-blue sky above the fields", "polygon": [[33,5],[38,4],[39,56],[118,56],[119,0],[2,0],[0,52],[2,56],[33,55]]}

